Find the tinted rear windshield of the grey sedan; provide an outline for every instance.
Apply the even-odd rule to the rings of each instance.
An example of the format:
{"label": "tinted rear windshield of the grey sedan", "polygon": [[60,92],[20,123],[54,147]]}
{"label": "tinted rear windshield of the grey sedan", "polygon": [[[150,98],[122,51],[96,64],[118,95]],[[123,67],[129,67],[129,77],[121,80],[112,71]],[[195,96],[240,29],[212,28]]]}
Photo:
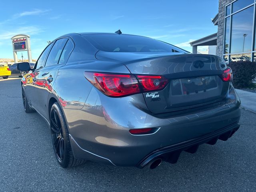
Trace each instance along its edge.
{"label": "tinted rear windshield of the grey sedan", "polygon": [[86,34],[83,37],[106,52],[187,52],[152,38],[124,34]]}

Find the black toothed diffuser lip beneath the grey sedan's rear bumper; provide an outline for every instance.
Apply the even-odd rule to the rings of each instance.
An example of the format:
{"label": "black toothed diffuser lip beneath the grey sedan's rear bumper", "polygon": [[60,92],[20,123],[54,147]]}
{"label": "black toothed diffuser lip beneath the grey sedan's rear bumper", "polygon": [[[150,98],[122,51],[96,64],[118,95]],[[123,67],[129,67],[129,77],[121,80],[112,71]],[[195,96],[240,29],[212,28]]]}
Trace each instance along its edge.
{"label": "black toothed diffuser lip beneath the grey sedan's rear bumper", "polygon": [[148,163],[153,162],[154,160],[159,158],[166,162],[176,163],[182,151],[195,153],[198,149],[198,146],[201,144],[207,143],[214,145],[216,144],[218,139],[226,141],[238,130],[239,127],[240,124],[236,122],[231,124],[230,126],[222,128],[210,134],[206,134],[199,138],[155,150],[151,152],[148,156],[146,156],[140,163],[138,163],[137,167],[144,168]]}

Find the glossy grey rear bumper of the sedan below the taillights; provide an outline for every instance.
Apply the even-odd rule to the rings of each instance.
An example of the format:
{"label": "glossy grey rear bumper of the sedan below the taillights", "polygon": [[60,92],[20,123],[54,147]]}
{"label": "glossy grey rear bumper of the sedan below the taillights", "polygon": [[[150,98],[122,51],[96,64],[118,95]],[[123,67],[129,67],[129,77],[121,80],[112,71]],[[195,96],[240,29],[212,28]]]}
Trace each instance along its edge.
{"label": "glossy grey rear bumper of the sedan below the taillights", "polygon": [[[144,111],[143,103],[141,94],[117,99],[92,89],[81,110],[63,108],[74,156],[142,168],[159,155],[166,154],[163,160],[168,161],[172,152],[191,152],[194,146],[214,143],[239,127],[240,100],[234,90],[218,106],[175,116],[152,116]],[[159,130],[136,136],[129,132],[134,128]]]}

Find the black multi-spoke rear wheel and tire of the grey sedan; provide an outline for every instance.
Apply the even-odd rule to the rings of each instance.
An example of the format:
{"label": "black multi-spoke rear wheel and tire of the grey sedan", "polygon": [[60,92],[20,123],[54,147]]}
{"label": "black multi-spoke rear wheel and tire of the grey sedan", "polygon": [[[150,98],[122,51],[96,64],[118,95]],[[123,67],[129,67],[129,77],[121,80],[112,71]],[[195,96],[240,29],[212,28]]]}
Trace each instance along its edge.
{"label": "black multi-spoke rear wheel and tire of the grey sedan", "polygon": [[50,130],[54,154],[61,167],[68,168],[86,162],[86,160],[74,158],[68,136],[68,126],[58,102],[55,102],[51,108]]}

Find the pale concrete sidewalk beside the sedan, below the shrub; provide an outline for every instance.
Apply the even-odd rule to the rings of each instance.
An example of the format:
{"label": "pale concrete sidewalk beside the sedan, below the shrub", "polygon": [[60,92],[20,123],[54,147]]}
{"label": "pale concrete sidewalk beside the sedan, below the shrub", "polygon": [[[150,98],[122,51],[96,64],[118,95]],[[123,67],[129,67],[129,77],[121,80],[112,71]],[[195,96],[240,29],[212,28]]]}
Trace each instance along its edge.
{"label": "pale concrete sidewalk beside the sedan, below the shrub", "polygon": [[236,89],[241,100],[241,105],[254,113],[256,113],[256,93]]}

